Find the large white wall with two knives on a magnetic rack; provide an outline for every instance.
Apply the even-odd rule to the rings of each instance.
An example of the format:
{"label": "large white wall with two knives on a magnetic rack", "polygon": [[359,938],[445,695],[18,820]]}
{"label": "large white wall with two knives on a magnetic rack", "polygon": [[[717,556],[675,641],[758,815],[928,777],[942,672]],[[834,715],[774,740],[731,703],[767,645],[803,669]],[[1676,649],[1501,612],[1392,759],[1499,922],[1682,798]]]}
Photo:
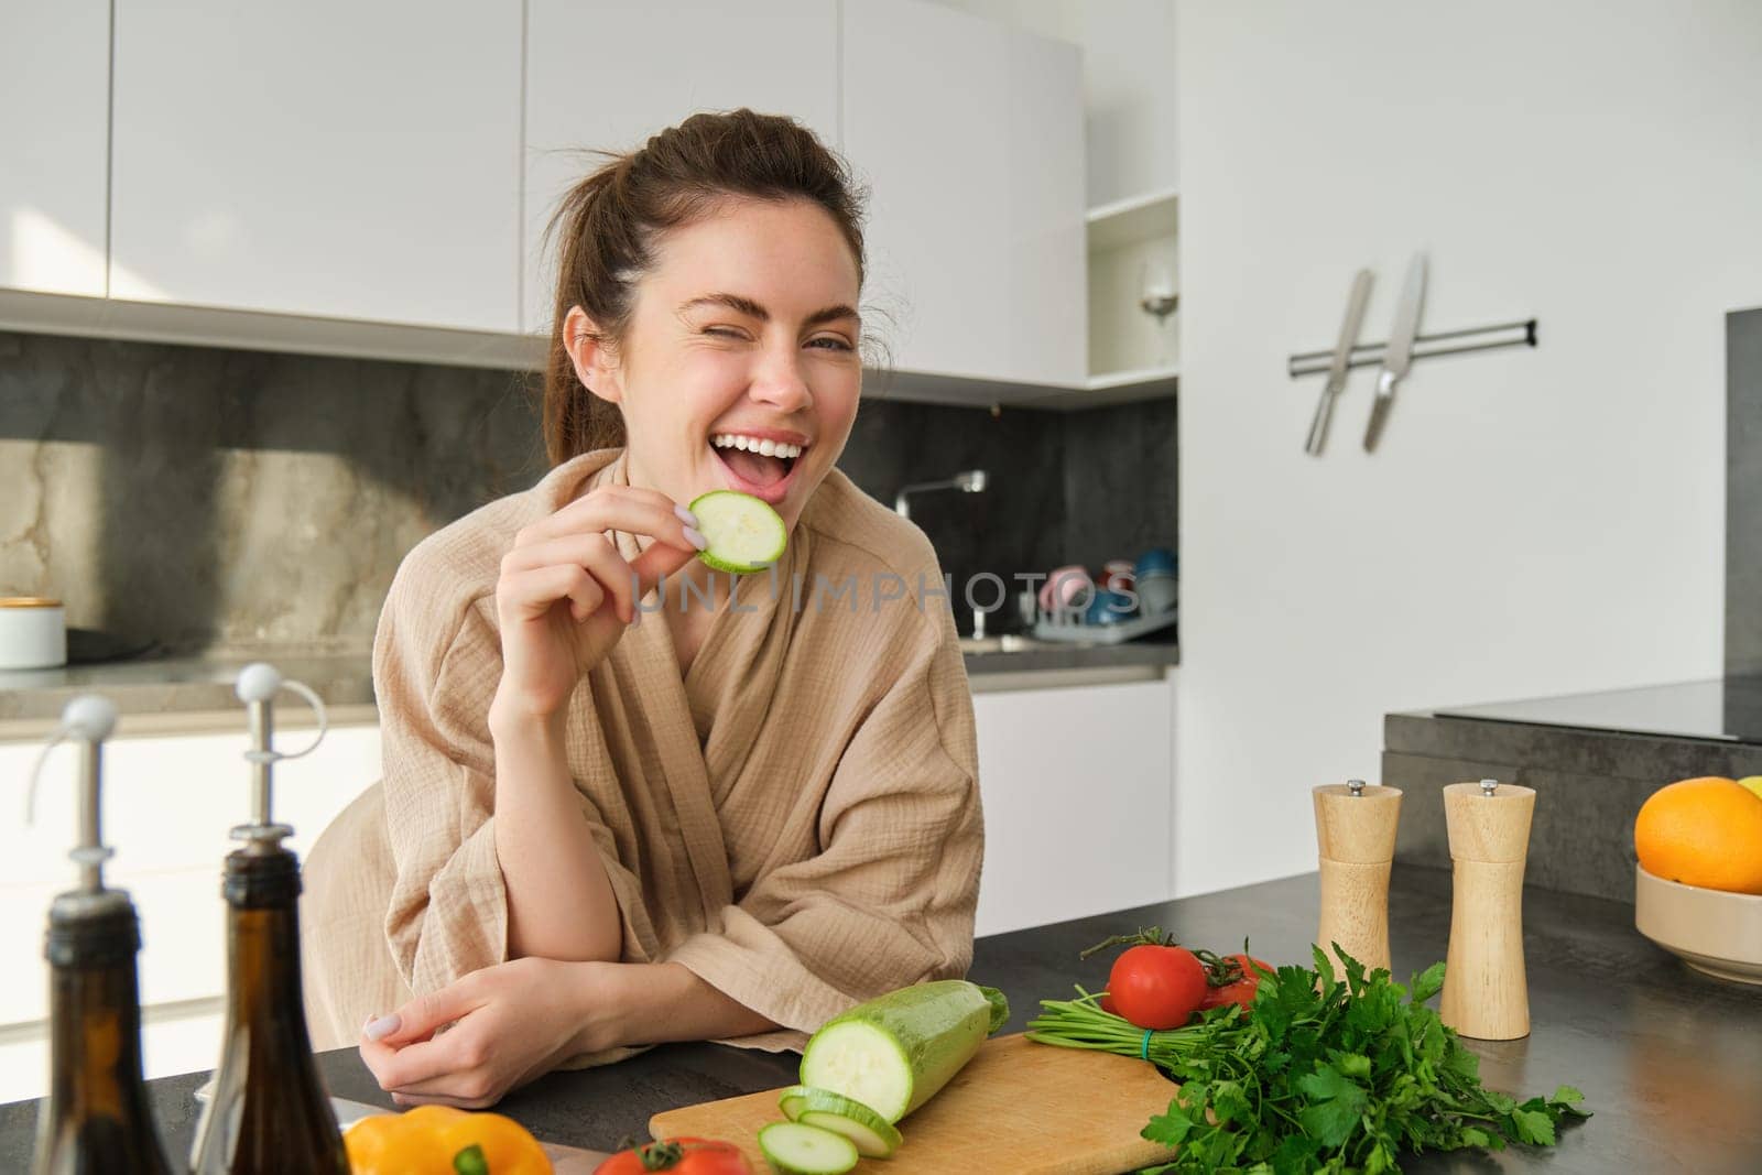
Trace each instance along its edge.
{"label": "large white wall with two knives on a magnetic rack", "polygon": [[[1713,676],[1723,321],[1762,305],[1762,5],[1182,0],[1175,888],[1314,867],[1307,789],[1381,715]],[[1353,270],[1422,361],[1302,453]]]}

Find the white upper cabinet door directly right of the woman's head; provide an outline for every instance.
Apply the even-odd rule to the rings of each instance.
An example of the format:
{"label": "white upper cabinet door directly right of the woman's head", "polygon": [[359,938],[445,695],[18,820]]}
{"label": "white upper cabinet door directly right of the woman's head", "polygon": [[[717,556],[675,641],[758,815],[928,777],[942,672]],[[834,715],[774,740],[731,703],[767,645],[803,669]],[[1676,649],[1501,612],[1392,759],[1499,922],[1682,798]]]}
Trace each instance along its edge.
{"label": "white upper cabinet door directly right of the woman's head", "polygon": [[893,365],[1080,384],[1077,46],[927,0],[848,0],[842,60],[844,151],[872,185],[865,299],[893,319]]}

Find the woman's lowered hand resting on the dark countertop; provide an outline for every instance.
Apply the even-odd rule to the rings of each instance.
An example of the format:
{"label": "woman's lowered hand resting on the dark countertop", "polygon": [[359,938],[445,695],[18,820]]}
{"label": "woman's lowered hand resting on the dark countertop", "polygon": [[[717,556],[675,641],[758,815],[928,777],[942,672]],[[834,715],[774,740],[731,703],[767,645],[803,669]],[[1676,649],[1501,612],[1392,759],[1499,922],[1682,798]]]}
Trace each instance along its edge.
{"label": "woman's lowered hand resting on the dark countertop", "polygon": [[615,967],[516,958],[474,971],[365,1025],[361,1060],[400,1106],[492,1106],[562,1060],[617,1043],[606,1008],[617,1002],[606,999]]}

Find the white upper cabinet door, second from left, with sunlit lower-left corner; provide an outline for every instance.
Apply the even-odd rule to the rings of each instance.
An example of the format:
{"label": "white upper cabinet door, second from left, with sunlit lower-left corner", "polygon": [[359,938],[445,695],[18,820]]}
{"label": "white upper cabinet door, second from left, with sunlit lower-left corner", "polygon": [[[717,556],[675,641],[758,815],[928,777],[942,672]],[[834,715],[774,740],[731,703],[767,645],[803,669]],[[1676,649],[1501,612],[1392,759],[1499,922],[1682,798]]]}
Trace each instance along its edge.
{"label": "white upper cabinet door, second from left, with sunlit lower-left corner", "polygon": [[518,329],[520,28],[520,0],[118,0],[111,296]]}

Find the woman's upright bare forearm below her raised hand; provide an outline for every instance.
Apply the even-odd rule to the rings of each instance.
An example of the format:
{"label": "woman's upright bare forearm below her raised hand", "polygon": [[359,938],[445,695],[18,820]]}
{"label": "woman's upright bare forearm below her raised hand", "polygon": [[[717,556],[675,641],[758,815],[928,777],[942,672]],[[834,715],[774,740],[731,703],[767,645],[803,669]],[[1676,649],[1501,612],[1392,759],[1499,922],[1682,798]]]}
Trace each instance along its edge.
{"label": "woman's upright bare forearm below her raised hand", "polygon": [[490,726],[509,958],[617,962],[618,902],[569,777],[562,721],[492,715]]}

